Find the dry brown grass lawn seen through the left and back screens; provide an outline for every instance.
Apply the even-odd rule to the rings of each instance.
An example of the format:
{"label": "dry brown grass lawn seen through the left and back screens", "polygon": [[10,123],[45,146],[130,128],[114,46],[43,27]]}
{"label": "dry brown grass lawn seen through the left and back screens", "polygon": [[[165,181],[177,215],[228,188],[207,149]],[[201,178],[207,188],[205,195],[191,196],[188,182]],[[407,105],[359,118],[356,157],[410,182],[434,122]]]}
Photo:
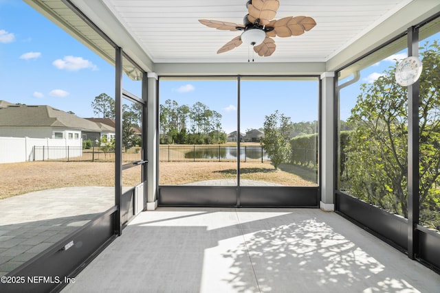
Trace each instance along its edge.
{"label": "dry brown grass lawn seen through the left and back screens", "polygon": [[[171,162],[159,164],[159,184],[236,178],[236,163]],[[114,163],[25,162],[0,164],[0,199],[58,187],[114,186]],[[124,186],[140,182],[140,167],[122,172]],[[275,170],[268,163],[241,163],[241,178],[290,186],[316,186],[314,172],[290,165]]]}

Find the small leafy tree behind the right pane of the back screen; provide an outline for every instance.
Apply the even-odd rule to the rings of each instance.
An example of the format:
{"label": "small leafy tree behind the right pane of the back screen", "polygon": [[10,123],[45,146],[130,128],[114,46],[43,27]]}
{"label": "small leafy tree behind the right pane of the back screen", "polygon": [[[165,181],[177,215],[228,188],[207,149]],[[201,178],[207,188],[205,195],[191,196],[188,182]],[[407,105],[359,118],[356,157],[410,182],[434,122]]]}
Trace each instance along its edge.
{"label": "small leafy tree behind the right pane of the back screen", "polygon": [[275,169],[278,169],[281,163],[289,161],[292,156],[292,148],[289,143],[292,130],[293,125],[290,117],[280,114],[278,110],[265,116],[264,137],[261,139],[261,145]]}

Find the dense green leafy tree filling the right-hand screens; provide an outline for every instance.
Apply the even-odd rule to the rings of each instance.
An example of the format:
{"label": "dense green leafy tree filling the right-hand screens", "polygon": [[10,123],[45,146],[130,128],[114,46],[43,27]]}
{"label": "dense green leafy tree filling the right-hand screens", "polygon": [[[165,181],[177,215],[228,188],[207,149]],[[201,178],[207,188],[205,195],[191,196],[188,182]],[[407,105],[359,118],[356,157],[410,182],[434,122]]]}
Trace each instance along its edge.
{"label": "dense green leafy tree filling the right-hand screens", "polygon": [[[423,71],[419,103],[419,198],[422,222],[440,228],[440,47],[421,48]],[[397,65],[397,63],[396,63]],[[408,216],[408,99],[395,82],[395,66],[371,84],[362,84],[348,119],[344,153],[348,180],[342,187],[354,196],[393,213]]]}

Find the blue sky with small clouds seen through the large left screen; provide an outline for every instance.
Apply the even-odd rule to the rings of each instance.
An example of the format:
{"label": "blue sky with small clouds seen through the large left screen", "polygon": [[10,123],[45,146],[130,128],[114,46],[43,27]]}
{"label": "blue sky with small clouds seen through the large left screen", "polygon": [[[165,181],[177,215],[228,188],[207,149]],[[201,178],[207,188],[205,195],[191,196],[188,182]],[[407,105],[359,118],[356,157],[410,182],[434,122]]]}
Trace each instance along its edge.
{"label": "blue sky with small clouds seen through the large left screen", "polygon": [[0,0],[0,99],[94,116],[91,101],[114,97],[114,69],[17,0]]}

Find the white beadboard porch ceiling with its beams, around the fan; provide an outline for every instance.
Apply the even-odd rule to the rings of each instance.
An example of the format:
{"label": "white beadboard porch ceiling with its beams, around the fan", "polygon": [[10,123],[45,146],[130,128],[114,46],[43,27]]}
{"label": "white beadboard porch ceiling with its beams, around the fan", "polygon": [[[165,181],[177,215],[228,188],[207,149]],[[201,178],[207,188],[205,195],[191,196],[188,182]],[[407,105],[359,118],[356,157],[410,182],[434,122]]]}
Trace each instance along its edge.
{"label": "white beadboard porch ceiling with its beams, around the fan", "polygon": [[[111,59],[111,47],[94,39],[90,27],[61,0],[25,1]],[[439,0],[279,0],[274,19],[305,15],[315,19],[316,27],[301,36],[274,37],[272,56],[254,54],[255,62],[243,67],[249,51],[252,58],[245,45],[217,54],[241,32],[215,30],[198,20],[242,24],[247,0],[69,1],[144,71],[167,74],[334,71],[440,12]]]}

